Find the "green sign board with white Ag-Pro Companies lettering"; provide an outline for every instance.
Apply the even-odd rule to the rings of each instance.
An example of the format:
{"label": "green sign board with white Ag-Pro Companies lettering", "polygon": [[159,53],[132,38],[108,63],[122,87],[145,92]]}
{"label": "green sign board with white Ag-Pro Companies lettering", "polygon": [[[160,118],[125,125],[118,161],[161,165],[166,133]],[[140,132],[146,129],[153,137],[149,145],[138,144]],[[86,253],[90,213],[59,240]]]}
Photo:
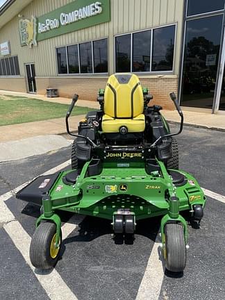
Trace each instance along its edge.
{"label": "green sign board with white Ag-Pro Companies lettering", "polygon": [[110,21],[110,0],[76,0],[37,18],[37,41]]}

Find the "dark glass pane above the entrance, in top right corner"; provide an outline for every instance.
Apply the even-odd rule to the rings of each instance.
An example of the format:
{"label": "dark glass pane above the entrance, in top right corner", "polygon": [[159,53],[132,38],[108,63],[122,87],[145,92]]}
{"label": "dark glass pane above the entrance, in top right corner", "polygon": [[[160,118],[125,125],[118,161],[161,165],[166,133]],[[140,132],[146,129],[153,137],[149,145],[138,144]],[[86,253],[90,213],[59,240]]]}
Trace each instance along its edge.
{"label": "dark glass pane above the entrance, in top right corner", "polygon": [[224,0],[188,0],[187,15],[199,15],[224,9]]}

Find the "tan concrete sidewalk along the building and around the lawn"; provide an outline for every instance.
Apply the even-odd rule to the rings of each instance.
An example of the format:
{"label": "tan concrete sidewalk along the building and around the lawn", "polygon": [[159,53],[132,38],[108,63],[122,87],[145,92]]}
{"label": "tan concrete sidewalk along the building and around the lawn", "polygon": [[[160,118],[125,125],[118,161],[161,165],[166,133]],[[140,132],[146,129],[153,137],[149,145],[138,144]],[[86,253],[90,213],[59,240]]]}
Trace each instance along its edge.
{"label": "tan concrete sidewalk along the building and around the lawn", "polygon": [[[41,99],[49,102],[57,102],[70,104],[71,99],[58,97],[47,98],[39,94],[26,94],[21,92],[9,92],[0,90],[0,94],[8,94],[19,97],[29,97]],[[77,106],[86,106],[90,108],[99,108],[99,103],[96,101],[78,100]],[[163,115],[169,122],[180,122],[178,113],[174,110],[163,110]],[[225,131],[225,115],[212,115],[210,113],[196,113],[188,110],[183,111],[184,123],[189,126],[197,126],[210,128],[219,131]],[[70,117],[69,124],[72,130],[76,130],[78,122],[84,115]],[[0,142],[12,140],[22,140],[36,135],[63,134],[66,132],[65,118],[49,119],[47,121],[30,122],[24,124],[15,124],[8,126],[0,126]]]}

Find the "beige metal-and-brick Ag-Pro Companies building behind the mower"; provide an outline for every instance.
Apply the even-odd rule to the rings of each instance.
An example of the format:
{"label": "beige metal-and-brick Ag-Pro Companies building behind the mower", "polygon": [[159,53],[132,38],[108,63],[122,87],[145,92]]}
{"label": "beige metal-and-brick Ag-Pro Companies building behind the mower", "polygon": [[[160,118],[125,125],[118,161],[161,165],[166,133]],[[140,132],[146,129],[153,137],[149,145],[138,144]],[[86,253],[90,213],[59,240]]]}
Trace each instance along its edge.
{"label": "beige metal-and-brick Ag-Pro Companies building behind the mower", "polygon": [[225,109],[224,0],[8,0],[0,8],[0,90],[57,88],[95,100],[134,72],[153,102]]}

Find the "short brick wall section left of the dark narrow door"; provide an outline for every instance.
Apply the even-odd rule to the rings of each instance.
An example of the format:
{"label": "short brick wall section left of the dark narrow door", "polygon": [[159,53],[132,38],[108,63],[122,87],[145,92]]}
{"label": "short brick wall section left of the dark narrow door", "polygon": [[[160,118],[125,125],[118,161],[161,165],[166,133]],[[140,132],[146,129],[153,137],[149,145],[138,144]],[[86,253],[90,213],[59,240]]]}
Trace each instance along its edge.
{"label": "short brick wall section left of the dark narrow door", "polygon": [[26,92],[26,78],[23,77],[1,77],[0,90],[14,92]]}

